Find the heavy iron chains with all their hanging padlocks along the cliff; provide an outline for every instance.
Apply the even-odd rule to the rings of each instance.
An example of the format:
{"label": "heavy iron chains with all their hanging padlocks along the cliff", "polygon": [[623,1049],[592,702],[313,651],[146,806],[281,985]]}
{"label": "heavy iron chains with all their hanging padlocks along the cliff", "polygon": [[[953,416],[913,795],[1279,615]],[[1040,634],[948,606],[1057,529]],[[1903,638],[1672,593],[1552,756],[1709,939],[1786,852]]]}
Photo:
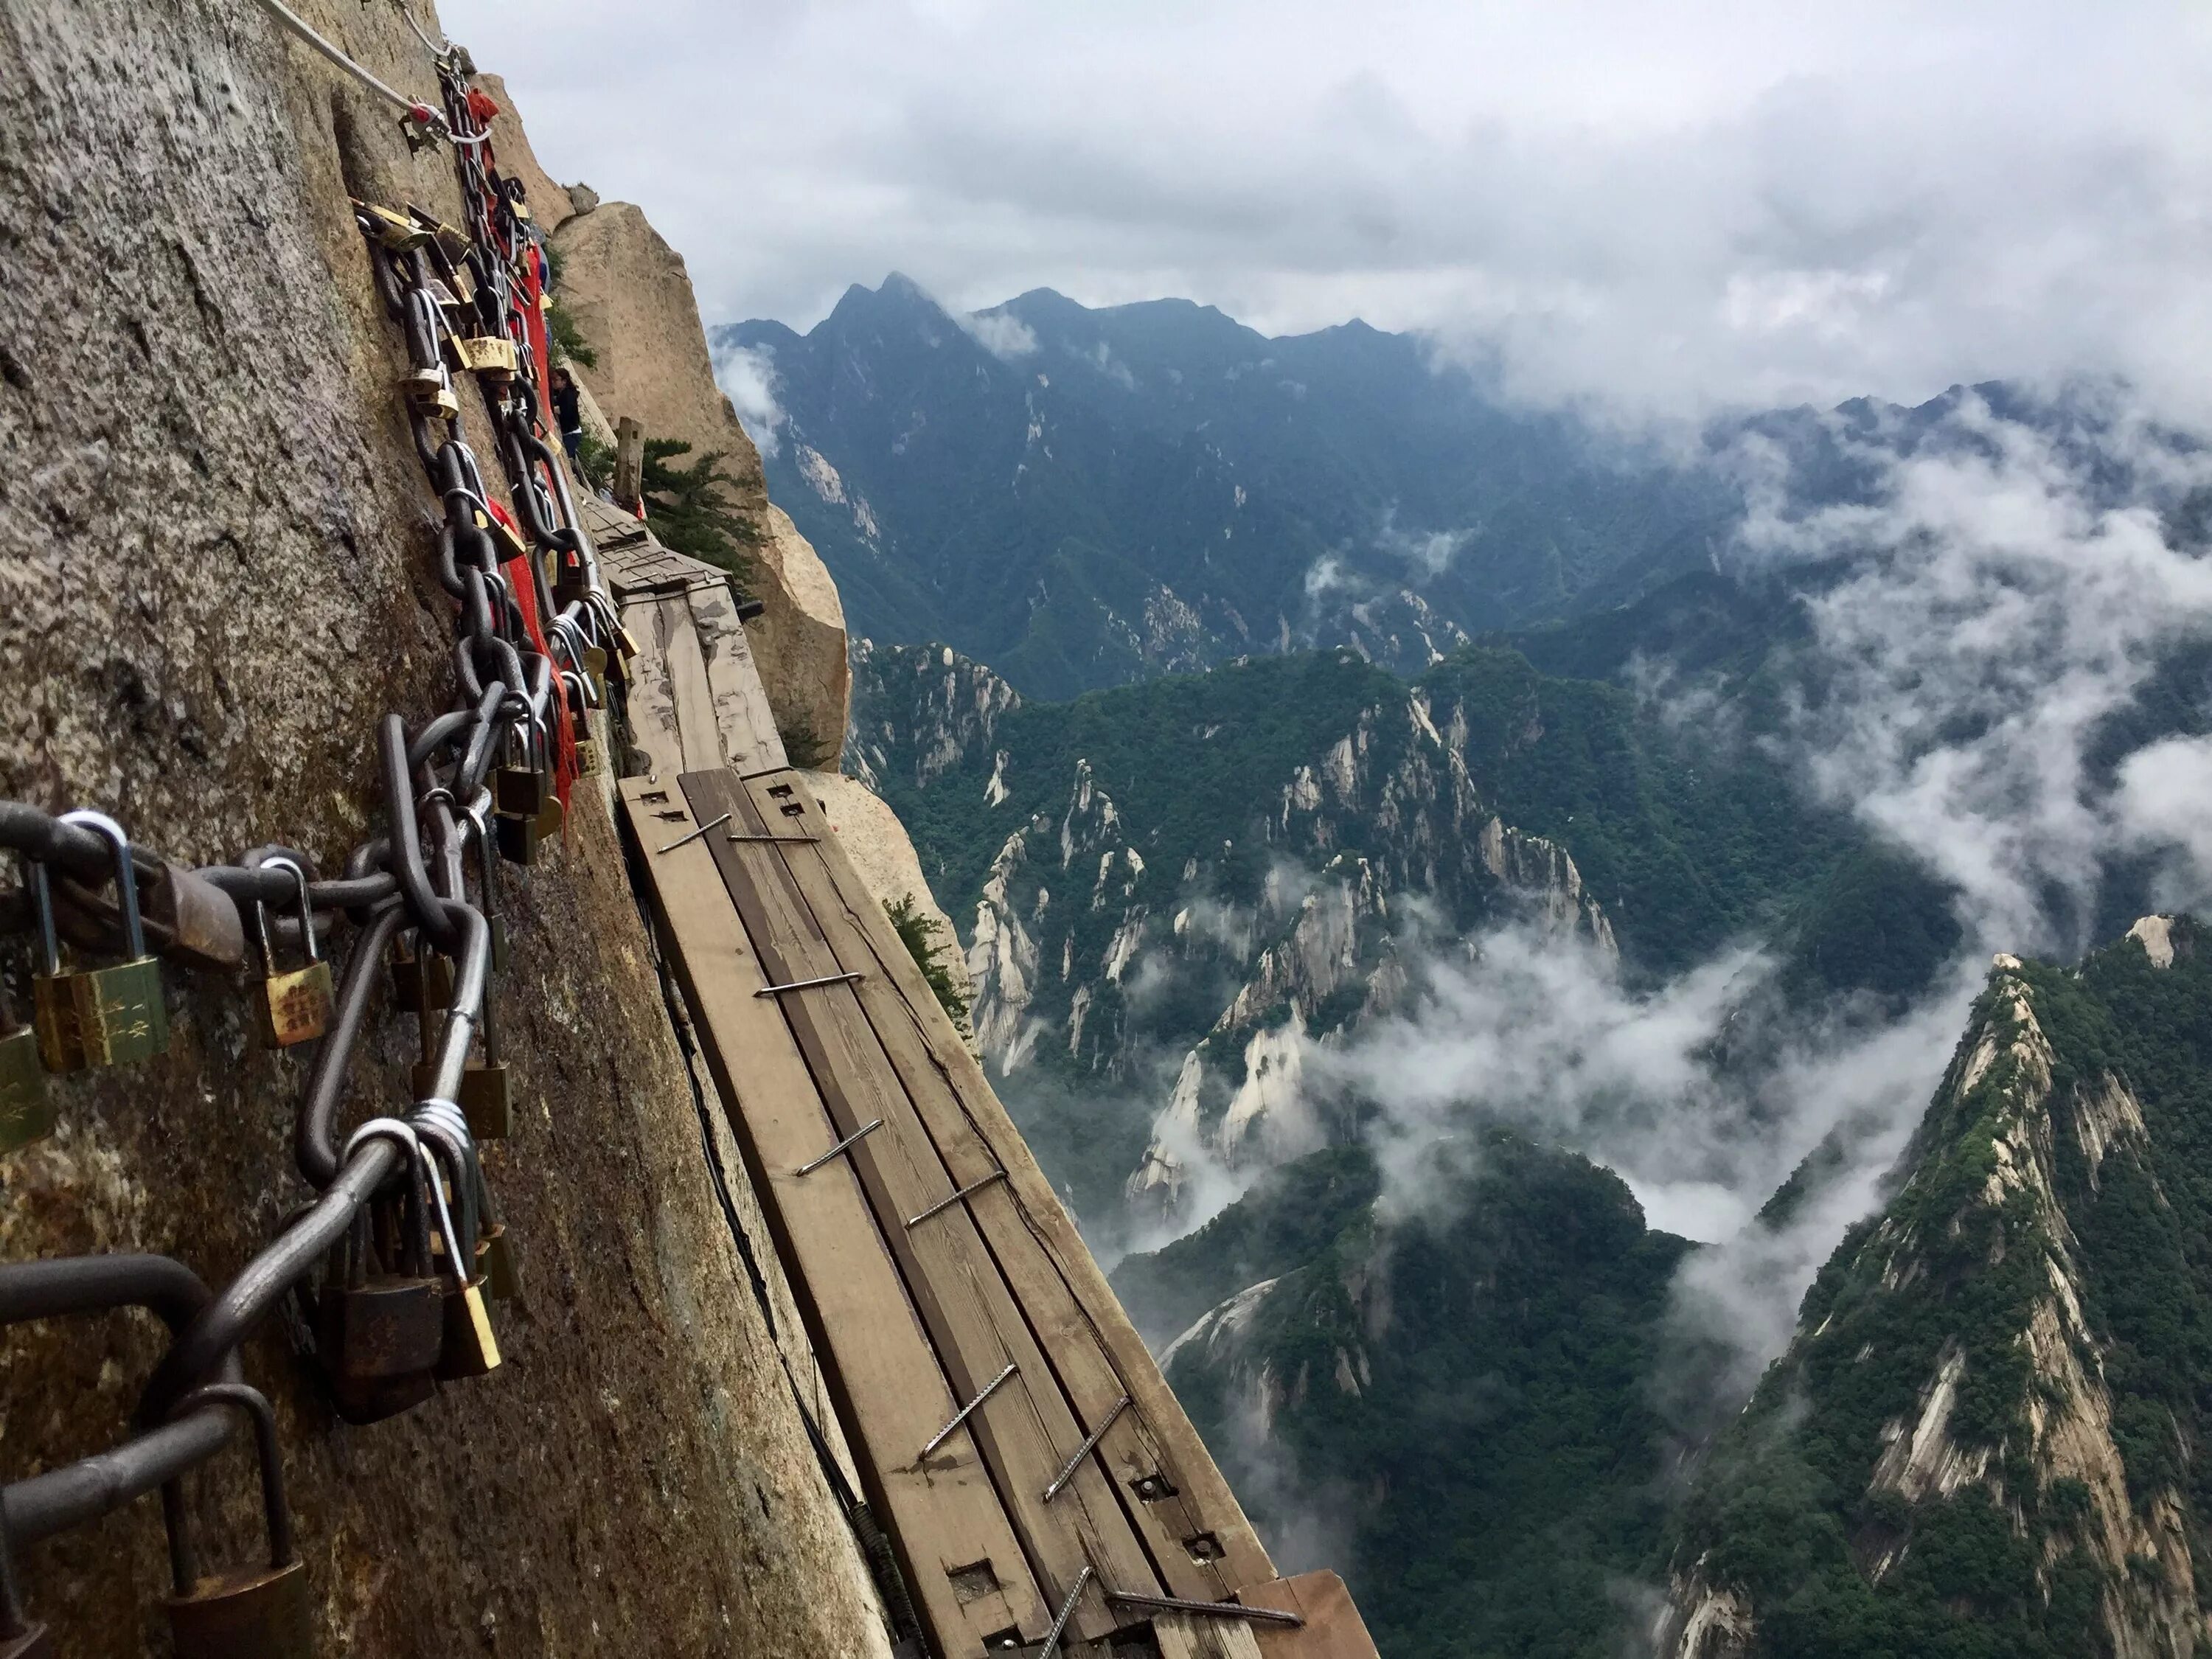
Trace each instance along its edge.
{"label": "heavy iron chains with all their hanging padlocks along the cliff", "polygon": [[[292,847],[190,869],[133,845],[102,814],[0,801],[0,847],[24,865],[22,889],[0,894],[0,929],[31,933],[38,949],[33,1024],[13,1029],[0,998],[0,1155],[53,1133],[49,1075],[166,1051],[161,958],[234,969],[250,931],[265,975],[263,1040],[321,1044],[294,1128],[299,1172],[316,1197],[228,1285],[210,1292],[161,1256],[0,1265],[0,1325],[146,1305],[173,1332],[128,1440],[0,1489],[0,1562],[11,1540],[88,1524],[161,1486],[179,1641],[190,1608],[206,1608],[212,1590],[188,1571],[175,1482],[230,1440],[232,1409],[268,1425],[265,1400],[257,1407],[261,1396],[239,1383],[239,1347],[270,1314],[299,1312],[334,1405],[354,1422],[411,1409],[438,1380],[500,1365],[484,1303],[511,1296],[518,1279],[478,1157],[478,1141],[504,1135],[509,1115],[491,1004],[507,956],[498,863],[533,865],[560,834],[571,785],[593,768],[577,732],[599,703],[611,653],[630,650],[542,429],[544,254],[520,188],[498,173],[495,111],[469,86],[467,55],[434,49],[438,113],[394,93],[276,0],[261,4],[407,108],[409,142],[420,133],[453,142],[462,230],[418,208],[354,206],[378,294],[407,345],[398,394],[416,456],[442,504],[436,575],[456,604],[456,686],[451,708],[418,730],[400,714],[378,723],[385,830],[334,878]],[[478,385],[504,504],[465,438],[456,374]],[[354,938],[334,980],[321,958],[341,918]],[[64,938],[119,949],[124,960],[71,967]],[[281,969],[290,953],[301,967]],[[414,1102],[341,1141],[347,1073],[387,980],[422,1035]],[[274,1535],[283,1504],[268,1436],[263,1453]],[[290,1571],[268,1577],[296,1584]],[[13,1652],[9,1624],[20,1615],[0,1595],[0,1648]]]}

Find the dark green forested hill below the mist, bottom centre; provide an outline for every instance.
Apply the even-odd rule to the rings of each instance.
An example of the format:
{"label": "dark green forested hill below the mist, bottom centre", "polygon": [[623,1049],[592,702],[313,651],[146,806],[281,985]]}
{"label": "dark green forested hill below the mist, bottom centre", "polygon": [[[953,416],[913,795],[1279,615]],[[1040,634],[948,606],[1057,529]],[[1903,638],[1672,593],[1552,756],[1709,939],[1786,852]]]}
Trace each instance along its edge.
{"label": "dark green forested hill below the mist, bottom centre", "polygon": [[1380,1203],[1365,1148],[1316,1152],[1115,1287],[1186,1332],[1168,1380],[1254,1520],[1347,1562],[1391,1659],[1613,1659],[1666,1513],[1650,1376],[1692,1245],[1513,1135],[1425,1164]]}

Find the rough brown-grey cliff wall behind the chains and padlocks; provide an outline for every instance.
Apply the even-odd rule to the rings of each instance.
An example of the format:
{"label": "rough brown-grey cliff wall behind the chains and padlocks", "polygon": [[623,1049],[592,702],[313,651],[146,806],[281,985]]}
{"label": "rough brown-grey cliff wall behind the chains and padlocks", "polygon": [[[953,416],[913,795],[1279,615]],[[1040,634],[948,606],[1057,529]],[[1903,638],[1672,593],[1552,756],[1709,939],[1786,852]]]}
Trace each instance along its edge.
{"label": "rough brown-grey cliff wall behind the chains and padlocks", "polygon": [[[429,91],[396,9],[301,9]],[[285,841],[327,863],[369,832],[378,714],[445,708],[405,361],[349,192],[458,219],[451,155],[409,155],[387,106],[261,11],[0,18],[0,794],[100,805],[184,858]],[[611,823],[582,807],[507,905],[507,1365],[349,1429],[283,1329],[243,1356],[276,1402],[319,1650],[883,1652]],[[20,991],[18,940],[0,962]],[[55,1086],[60,1133],[0,1159],[0,1259],[153,1250],[221,1283],[270,1239],[305,1197],[305,1062],[250,1042],[252,991],[170,971],[170,1053]],[[414,1024],[374,1018],[345,1121],[407,1099]],[[0,1334],[0,1478],[117,1442],[157,1352],[122,1314]],[[243,1460],[192,1491],[206,1553],[246,1559]],[[20,1575],[62,1652],[166,1641],[150,1500],[22,1551]]]}

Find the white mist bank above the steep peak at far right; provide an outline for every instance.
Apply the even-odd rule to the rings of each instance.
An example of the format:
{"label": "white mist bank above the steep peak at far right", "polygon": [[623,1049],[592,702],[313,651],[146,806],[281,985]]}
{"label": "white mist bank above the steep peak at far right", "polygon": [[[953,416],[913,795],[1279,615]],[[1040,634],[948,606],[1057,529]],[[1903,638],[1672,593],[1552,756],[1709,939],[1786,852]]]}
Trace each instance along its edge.
{"label": "white mist bank above the steep peak at far right", "polygon": [[[2108,856],[2194,845],[2154,774],[2183,754],[2137,757],[2115,787],[2095,745],[2212,628],[2212,562],[2168,546],[2157,507],[2212,458],[2132,403],[2090,425],[2081,449],[1966,398],[1905,456],[1836,427],[1871,491],[1809,513],[1776,453],[1747,451],[1734,557],[1803,580],[1814,633],[1790,748],[1820,796],[1962,891],[1980,949],[2079,953]],[[1832,560],[1849,573],[1809,575]]]}

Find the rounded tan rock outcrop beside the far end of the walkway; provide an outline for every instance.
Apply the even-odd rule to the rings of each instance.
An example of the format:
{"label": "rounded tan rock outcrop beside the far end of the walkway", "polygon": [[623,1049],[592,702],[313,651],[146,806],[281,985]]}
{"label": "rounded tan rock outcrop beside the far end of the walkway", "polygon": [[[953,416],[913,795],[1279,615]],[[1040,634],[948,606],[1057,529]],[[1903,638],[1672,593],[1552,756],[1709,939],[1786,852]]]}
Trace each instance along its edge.
{"label": "rounded tan rock outcrop beside the far end of the walkway", "polygon": [[801,765],[836,761],[852,670],[836,584],[783,509],[768,502],[761,453],[714,385],[684,257],[628,201],[602,201],[562,223],[560,299],[599,358],[573,365],[608,420],[635,418],[648,438],[692,447],[679,465],[719,453],[732,511],[748,524],[745,586],[765,611],[745,624],[776,730]]}

